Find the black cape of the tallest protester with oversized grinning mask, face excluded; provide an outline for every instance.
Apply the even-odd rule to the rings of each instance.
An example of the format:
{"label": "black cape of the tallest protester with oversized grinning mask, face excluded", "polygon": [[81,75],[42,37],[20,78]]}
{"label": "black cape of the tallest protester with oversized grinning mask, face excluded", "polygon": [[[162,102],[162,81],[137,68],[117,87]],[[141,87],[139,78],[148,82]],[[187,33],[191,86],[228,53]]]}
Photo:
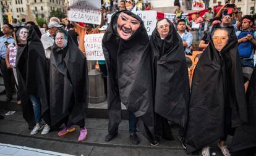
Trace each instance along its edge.
{"label": "black cape of the tallest protester with oversized grinning mask, face excluded", "polygon": [[[127,40],[117,35],[121,12],[140,21],[140,27]],[[153,142],[153,72],[150,44],[142,19],[128,10],[116,12],[103,36],[103,52],[108,68],[109,133],[121,122],[121,102],[133,112],[142,134]]]}

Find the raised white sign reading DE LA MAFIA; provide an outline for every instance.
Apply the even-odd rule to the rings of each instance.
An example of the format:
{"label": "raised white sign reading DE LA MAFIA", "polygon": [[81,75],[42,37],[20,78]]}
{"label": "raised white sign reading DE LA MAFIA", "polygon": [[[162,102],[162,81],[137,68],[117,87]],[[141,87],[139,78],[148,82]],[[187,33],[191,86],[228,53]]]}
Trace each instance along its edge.
{"label": "raised white sign reading DE LA MAFIA", "polygon": [[100,25],[100,0],[69,0],[69,20]]}

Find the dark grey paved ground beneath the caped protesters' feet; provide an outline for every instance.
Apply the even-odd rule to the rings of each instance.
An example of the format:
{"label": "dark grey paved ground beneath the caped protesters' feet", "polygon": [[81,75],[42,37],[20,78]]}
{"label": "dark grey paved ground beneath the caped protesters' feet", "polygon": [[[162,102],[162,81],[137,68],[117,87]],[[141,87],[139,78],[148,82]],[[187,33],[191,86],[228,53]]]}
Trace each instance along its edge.
{"label": "dark grey paved ground beneath the caped protesters' feet", "polygon": [[[4,115],[7,110],[3,110]],[[53,131],[45,136],[36,134],[30,135],[27,123],[22,118],[22,112],[15,112],[14,115],[5,116],[0,120],[0,142],[4,144],[13,144],[17,146],[26,146],[42,150],[51,150],[71,155],[186,155],[181,144],[177,141],[176,126],[173,126],[174,141],[161,141],[159,146],[151,147],[147,139],[140,133],[140,144],[134,146],[129,139],[128,121],[123,120],[119,126],[119,134],[113,141],[105,142],[104,138],[108,133],[108,119],[86,118],[85,125],[88,129],[88,137],[84,142],[78,142],[79,129],[74,133],[67,134],[62,138],[57,136],[57,131]],[[213,145],[211,153],[216,152],[220,155],[220,150],[216,144]]]}

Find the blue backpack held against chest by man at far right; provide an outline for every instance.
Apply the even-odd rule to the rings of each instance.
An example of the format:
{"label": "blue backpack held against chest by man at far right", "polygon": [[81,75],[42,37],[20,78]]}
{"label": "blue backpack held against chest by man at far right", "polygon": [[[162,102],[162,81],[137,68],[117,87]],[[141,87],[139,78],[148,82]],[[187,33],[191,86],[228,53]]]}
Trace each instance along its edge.
{"label": "blue backpack held against chest by man at far right", "polygon": [[[254,36],[254,33],[252,31],[241,31],[239,35],[237,36],[237,39],[244,38],[247,36],[247,34],[250,34]],[[252,55],[252,50],[254,49],[254,44],[252,44],[251,41],[242,42],[238,44],[238,52],[240,57],[247,59]]]}

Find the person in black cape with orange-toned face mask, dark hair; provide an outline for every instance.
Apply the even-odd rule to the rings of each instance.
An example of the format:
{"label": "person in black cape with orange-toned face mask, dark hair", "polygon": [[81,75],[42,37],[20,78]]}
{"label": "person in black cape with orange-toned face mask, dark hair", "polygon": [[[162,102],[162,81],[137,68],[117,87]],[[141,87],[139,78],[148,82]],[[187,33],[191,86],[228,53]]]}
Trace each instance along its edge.
{"label": "person in black cape with orange-toned face mask, dark hair", "polygon": [[247,107],[242,66],[237,53],[233,27],[215,25],[209,46],[195,67],[187,125],[187,153],[202,149],[220,139],[223,155],[230,155],[224,145],[231,128],[247,122]]}

